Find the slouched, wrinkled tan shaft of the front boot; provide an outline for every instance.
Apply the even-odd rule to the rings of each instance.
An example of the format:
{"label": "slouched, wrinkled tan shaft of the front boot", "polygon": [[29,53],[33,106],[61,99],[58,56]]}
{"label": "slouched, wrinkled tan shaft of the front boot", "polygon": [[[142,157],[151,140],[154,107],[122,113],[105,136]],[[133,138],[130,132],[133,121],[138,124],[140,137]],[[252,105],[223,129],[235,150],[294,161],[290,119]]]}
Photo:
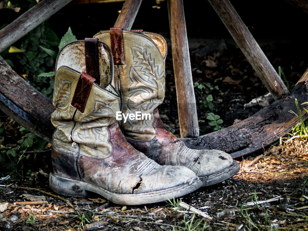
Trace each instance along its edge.
{"label": "slouched, wrinkled tan shaft of the front boot", "polygon": [[[107,128],[117,123],[115,114],[120,110],[120,95],[111,84],[112,56],[110,50],[105,49],[107,46],[100,43],[99,57],[104,63],[100,63],[99,71],[109,82],[106,85],[106,80],[101,78],[101,84],[106,85],[101,87],[94,83],[95,79],[90,75],[70,68],[78,67],[78,63],[79,69],[76,69],[84,69],[81,47],[84,47],[83,41],[70,43],[62,49],[57,59],[53,96],[56,110],[51,115],[51,122],[56,128],[53,142],[59,147],[71,143],[72,149],[80,148],[91,156],[106,157],[112,151]],[[66,60],[71,60],[67,63],[69,67],[63,66]]]}

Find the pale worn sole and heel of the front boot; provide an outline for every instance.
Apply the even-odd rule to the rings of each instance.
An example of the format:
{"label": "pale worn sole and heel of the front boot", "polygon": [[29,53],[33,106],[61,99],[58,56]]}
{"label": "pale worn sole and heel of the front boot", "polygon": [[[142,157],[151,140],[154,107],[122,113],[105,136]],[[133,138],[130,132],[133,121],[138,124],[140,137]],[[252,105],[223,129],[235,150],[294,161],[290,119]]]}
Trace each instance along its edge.
{"label": "pale worn sole and heel of the front boot", "polygon": [[51,172],[49,175],[49,186],[56,193],[69,197],[87,197],[87,192],[90,191],[105,197],[115,204],[144,205],[184,196],[200,188],[202,183],[195,178],[191,182],[185,182],[184,184],[165,190],[150,193],[120,194],[110,192],[91,183],[57,176]]}

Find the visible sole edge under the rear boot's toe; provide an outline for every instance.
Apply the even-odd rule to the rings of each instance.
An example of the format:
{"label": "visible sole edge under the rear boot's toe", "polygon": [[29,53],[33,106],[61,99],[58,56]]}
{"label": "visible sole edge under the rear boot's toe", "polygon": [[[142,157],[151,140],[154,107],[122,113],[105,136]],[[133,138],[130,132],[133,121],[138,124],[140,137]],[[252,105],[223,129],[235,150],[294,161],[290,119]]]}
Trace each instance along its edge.
{"label": "visible sole edge under the rear boot's toe", "polygon": [[202,181],[202,187],[210,186],[231,178],[237,174],[238,171],[240,171],[240,166],[235,160],[233,160],[233,163],[228,168],[225,168],[210,176],[199,177],[199,179]]}

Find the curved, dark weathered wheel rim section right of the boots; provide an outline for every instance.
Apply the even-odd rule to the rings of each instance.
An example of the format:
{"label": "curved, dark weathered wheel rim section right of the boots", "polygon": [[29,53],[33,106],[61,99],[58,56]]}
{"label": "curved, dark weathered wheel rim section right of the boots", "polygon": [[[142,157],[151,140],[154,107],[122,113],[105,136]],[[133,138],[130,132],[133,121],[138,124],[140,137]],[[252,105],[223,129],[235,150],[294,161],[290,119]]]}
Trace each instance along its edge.
{"label": "curved, dark weathered wheel rim section right of the boots", "polygon": [[[181,139],[186,146],[195,149],[218,149],[230,153],[233,158],[255,152],[286,135],[298,118],[289,110],[297,111],[298,103],[308,102],[308,70],[294,87],[294,94],[275,101],[253,116],[221,131],[193,139]],[[308,115],[302,110],[303,119]]]}

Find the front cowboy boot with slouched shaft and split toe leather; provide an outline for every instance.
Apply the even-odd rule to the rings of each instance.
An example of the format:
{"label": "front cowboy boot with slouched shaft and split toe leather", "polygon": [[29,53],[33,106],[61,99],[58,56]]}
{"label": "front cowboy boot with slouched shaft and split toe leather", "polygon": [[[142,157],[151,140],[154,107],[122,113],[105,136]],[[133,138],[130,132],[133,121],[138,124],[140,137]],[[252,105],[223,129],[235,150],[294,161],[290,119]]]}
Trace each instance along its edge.
{"label": "front cowboy boot with slouched shaft and split toe leather", "polygon": [[120,95],[112,85],[110,49],[101,42],[94,45],[100,86],[84,72],[93,61],[85,60],[84,46],[84,41],[70,43],[57,59],[50,187],[72,197],[91,191],[122,205],[166,201],[201,187],[188,168],[161,166],[128,144],[115,120]]}

